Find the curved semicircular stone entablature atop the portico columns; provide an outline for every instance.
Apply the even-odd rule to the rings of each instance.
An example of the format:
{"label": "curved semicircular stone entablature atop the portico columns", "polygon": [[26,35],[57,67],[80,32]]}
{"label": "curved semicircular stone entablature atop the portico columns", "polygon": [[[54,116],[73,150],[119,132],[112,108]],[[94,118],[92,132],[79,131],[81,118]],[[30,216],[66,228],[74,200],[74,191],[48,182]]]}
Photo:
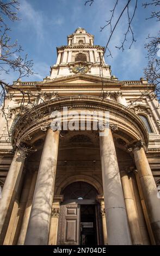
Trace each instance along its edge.
{"label": "curved semicircular stone entablature atop the portico columns", "polygon": [[[61,114],[63,127],[64,113],[66,114],[64,108],[67,108],[68,113],[76,111],[78,115],[83,111],[90,113],[94,111],[99,113],[109,112],[109,123],[116,127],[116,134],[124,138],[127,144],[139,140],[142,140],[145,145],[148,143],[147,129],[143,121],[131,109],[112,100],[88,95],[58,97],[29,109],[27,113],[19,118],[14,127],[13,143],[25,142],[32,144],[43,137],[43,131],[54,121],[52,113],[55,111]],[[78,115],[75,120],[79,120]],[[70,121],[70,118],[68,117],[68,121]],[[91,118],[90,120],[93,121]]]}

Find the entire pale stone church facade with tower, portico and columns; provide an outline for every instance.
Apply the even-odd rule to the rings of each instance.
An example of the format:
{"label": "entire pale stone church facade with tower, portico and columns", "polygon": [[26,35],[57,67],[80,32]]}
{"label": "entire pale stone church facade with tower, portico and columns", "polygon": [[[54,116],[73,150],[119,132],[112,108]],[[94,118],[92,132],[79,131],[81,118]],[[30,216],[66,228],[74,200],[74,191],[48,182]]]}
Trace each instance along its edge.
{"label": "entire pale stone church facade with tower, portico and columns", "polygon": [[[8,89],[1,245],[160,245],[158,101],[143,78],[113,76],[103,53],[77,28],[57,47],[50,76]],[[81,130],[53,130],[51,113],[64,107],[108,111],[107,135],[87,129],[87,117]]]}

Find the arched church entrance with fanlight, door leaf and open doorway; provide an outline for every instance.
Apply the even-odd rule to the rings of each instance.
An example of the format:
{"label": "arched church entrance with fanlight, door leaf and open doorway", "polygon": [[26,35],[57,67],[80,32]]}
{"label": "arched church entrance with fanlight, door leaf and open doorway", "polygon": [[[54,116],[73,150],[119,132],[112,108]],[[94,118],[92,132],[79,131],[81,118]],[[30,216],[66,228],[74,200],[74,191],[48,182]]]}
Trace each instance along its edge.
{"label": "arched church entrance with fanlight, door leaf and open doorway", "polygon": [[97,190],[84,181],[73,182],[61,191],[58,245],[102,244],[100,205]]}

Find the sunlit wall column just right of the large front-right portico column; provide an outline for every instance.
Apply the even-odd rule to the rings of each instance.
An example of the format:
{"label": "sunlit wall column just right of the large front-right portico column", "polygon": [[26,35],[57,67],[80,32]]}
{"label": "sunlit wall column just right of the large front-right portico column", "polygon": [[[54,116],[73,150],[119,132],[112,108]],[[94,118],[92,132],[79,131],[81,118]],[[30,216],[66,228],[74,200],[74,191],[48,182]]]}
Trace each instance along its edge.
{"label": "sunlit wall column just right of the large front-right portico column", "polygon": [[141,238],[138,215],[136,211],[136,205],[134,204],[134,196],[131,191],[128,175],[125,170],[120,172],[122,189],[124,191],[125,205],[128,217],[128,224],[130,226],[132,245],[143,245]]}

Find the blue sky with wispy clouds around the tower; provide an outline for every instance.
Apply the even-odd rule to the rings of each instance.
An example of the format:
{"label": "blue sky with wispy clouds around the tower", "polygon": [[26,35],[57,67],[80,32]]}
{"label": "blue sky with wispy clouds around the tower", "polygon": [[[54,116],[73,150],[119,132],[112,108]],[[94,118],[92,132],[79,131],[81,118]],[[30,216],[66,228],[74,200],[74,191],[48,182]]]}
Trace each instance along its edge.
{"label": "blue sky with wispy clouds around the tower", "polygon": [[[50,66],[56,63],[56,47],[66,45],[66,36],[72,34],[77,27],[83,27],[90,34],[95,35],[95,44],[105,46],[108,31],[100,32],[100,27],[105,25],[112,9],[114,0],[95,0],[91,7],[85,6],[85,0],[20,0],[18,22],[9,22],[10,36],[18,40],[24,53],[34,60],[34,71],[38,74],[23,78],[23,81],[41,81],[50,74]],[[131,2],[134,2],[132,0]],[[155,35],[159,24],[154,20],[146,21],[151,8],[144,9],[138,0],[138,9],[134,17],[133,31],[136,42],[125,52],[115,48],[120,45],[122,33],[126,28],[126,16],[121,20],[110,42],[113,58],[106,57],[106,63],[111,65],[112,75],[119,80],[139,80],[143,77],[143,68],[147,63],[144,42],[147,35]],[[120,11],[126,0],[121,0],[118,7]],[[131,6],[131,11],[133,6]],[[115,19],[118,13],[115,14]],[[130,38],[128,38],[130,41]],[[4,75],[5,82],[16,80],[14,72]]]}

